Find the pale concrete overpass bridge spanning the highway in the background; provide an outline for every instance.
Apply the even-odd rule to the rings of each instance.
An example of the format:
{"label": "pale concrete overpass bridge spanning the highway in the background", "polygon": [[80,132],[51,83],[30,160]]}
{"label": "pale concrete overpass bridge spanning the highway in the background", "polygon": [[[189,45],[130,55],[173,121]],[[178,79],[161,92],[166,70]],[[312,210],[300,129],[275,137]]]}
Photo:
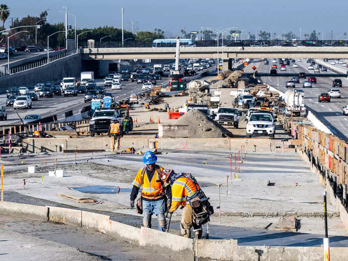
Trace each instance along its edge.
{"label": "pale concrete overpass bridge spanning the highway in the background", "polygon": [[[174,47],[84,48],[82,60],[174,59]],[[219,52],[219,54],[218,54]],[[348,58],[348,47],[181,47],[180,58],[221,58],[231,68],[234,58]]]}

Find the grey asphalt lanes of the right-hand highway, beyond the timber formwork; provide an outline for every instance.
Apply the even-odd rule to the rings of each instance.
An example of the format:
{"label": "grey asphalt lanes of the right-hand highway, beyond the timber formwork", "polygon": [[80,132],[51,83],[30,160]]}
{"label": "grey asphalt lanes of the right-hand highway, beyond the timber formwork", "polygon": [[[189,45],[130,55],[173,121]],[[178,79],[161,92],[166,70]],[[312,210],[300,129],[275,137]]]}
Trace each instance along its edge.
{"label": "grey asphalt lanes of the right-hand highway, beyond the timber formwork", "polygon": [[[271,59],[268,59],[271,62]],[[293,63],[290,66],[286,66],[287,73],[314,73],[313,70],[308,70],[309,64],[306,63],[307,59],[302,59],[301,62],[296,62],[298,68],[292,68]],[[277,62],[279,70],[279,64]],[[271,63],[264,65],[261,69],[262,73],[269,73]],[[312,88],[303,88],[302,83],[304,79],[300,80],[300,84],[296,84],[296,88],[302,89],[305,92],[305,105],[308,108],[316,112],[319,119],[338,137],[348,140],[348,117],[342,114],[342,107],[348,103],[348,80],[346,77],[331,77],[325,76],[332,74],[333,72],[321,72],[317,78],[317,84],[313,84]],[[267,83],[279,90],[285,92],[288,88],[285,87],[286,81],[290,80],[292,76],[264,76],[261,77],[262,82]],[[308,79],[308,78],[307,78]],[[330,103],[318,102],[318,95],[322,92],[328,92],[332,87],[332,81],[334,79],[341,79],[343,87],[341,90],[341,98],[332,98]]]}

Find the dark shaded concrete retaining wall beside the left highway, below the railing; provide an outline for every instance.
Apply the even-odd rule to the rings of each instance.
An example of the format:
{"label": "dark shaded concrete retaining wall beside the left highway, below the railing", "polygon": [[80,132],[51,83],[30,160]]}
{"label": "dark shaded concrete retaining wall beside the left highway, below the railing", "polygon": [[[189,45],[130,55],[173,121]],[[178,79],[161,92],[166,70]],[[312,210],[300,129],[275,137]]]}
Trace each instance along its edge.
{"label": "dark shaded concrete retaining wall beside the left highway, below the railing", "polygon": [[62,80],[81,73],[81,54],[72,55],[49,64],[0,77],[0,92],[9,86],[26,86],[47,81]]}

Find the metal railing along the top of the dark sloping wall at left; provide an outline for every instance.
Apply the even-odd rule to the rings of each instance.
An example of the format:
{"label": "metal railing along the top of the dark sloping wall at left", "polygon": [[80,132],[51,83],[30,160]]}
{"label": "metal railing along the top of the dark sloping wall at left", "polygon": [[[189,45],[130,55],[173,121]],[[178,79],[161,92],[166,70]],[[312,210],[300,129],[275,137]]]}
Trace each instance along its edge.
{"label": "metal railing along the top of the dark sloping wall at left", "polygon": [[3,66],[3,67],[5,67],[5,69],[4,69],[4,72],[0,71],[0,76],[21,73],[21,72],[24,72],[24,71],[28,71],[28,70],[40,67],[40,66],[45,66],[48,63],[51,63],[51,62],[57,61],[59,59],[63,59],[63,58],[75,55],[77,53],[78,53],[78,50],[71,50],[71,51],[67,51],[67,52],[61,52],[61,53],[59,53],[57,55],[50,56],[49,60],[47,60],[47,56],[46,56],[45,58],[41,58],[41,59],[36,60],[34,62],[28,62],[28,63],[24,63],[24,64],[21,64],[21,65],[14,66],[14,67],[9,69],[9,73],[8,73],[8,70],[7,70],[7,66]]}

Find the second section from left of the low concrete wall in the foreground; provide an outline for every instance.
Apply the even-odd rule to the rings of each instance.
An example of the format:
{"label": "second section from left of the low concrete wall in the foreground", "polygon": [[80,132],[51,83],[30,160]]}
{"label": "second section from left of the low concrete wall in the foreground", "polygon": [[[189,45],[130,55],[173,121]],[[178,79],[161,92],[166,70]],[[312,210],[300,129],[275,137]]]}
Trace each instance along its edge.
{"label": "second section from left of the low concrete wall in the foreground", "polygon": [[62,207],[52,207],[49,208],[48,219],[52,222],[64,223],[82,226],[82,211],[77,209],[69,209]]}

